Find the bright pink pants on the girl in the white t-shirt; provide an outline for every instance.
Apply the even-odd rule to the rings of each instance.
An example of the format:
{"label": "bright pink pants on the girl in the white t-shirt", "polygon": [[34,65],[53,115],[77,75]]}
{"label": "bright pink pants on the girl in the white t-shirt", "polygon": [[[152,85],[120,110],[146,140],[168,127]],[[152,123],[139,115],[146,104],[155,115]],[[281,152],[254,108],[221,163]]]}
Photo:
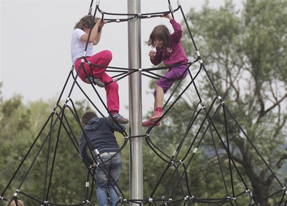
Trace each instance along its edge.
{"label": "bright pink pants on the girl in the white t-shirt", "polygon": [[[101,52],[98,52],[92,57],[86,57],[86,59],[91,62],[92,64],[101,65],[101,66],[109,66],[110,62],[112,61],[112,52],[109,50],[104,50]],[[75,62],[75,69],[76,72],[80,69],[78,76],[81,80],[86,82],[86,73],[84,69],[86,70],[88,76],[94,76],[96,78],[99,78],[102,82],[110,82],[113,79],[106,73],[106,67],[92,67],[92,73],[90,66],[84,62],[83,67],[80,67],[81,64],[81,58],[76,60]],[[107,107],[109,111],[116,111],[118,113],[119,111],[119,96],[118,96],[118,84],[116,82],[109,83],[105,86],[106,89],[106,95],[107,95]]]}

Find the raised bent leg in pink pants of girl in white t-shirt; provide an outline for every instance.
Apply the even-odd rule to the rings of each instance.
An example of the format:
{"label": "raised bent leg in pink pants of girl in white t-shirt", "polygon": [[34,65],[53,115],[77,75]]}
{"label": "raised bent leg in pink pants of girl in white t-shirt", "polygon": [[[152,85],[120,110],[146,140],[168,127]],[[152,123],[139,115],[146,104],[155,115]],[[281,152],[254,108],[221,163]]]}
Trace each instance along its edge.
{"label": "raised bent leg in pink pants of girl in white t-shirt", "polygon": [[[92,55],[92,57],[88,57],[87,60],[92,64],[109,66],[110,62],[112,61],[112,52],[109,50],[104,50]],[[94,77],[101,79],[106,69],[106,67],[92,66],[92,74]]]}

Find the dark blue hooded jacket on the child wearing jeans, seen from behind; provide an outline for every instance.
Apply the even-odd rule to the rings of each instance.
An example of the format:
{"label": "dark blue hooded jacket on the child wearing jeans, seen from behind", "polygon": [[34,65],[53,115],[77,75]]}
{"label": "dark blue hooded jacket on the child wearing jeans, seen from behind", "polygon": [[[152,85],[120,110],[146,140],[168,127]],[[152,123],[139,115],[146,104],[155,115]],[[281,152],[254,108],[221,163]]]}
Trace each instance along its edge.
{"label": "dark blue hooded jacket on the child wearing jeans, seen from behind", "polygon": [[[119,146],[116,141],[114,132],[117,131],[122,133],[125,130],[125,125],[120,124],[118,126],[116,123],[110,123],[106,117],[94,117],[84,127],[84,131],[90,139],[90,142],[94,145],[94,147],[98,150],[100,154],[106,152],[119,152]],[[91,148],[93,149],[93,147]],[[89,165],[91,165],[94,161],[89,156],[87,150],[88,144],[82,131],[80,135],[79,153],[80,156]]]}

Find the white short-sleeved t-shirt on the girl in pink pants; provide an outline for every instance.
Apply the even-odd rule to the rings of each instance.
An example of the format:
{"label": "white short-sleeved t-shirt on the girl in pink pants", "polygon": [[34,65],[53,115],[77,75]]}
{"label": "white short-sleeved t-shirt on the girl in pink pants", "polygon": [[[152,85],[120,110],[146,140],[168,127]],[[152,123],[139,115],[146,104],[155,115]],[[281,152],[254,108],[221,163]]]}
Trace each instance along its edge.
{"label": "white short-sleeved t-shirt on the girl in pink pants", "polygon": [[[75,29],[72,34],[71,56],[73,64],[75,64],[76,59],[84,56],[84,51],[87,42],[80,41],[80,38],[83,34],[85,34],[85,31],[81,29]],[[87,47],[87,56],[92,55],[93,55],[93,43],[89,43]]]}

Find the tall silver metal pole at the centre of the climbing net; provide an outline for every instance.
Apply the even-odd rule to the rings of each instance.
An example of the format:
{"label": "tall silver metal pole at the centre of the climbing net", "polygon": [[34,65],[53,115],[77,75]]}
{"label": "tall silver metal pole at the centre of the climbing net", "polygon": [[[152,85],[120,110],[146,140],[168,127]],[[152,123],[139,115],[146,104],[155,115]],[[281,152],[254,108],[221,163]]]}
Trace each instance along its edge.
{"label": "tall silver metal pole at the centre of the climbing net", "polygon": [[[128,13],[140,13],[140,0],[128,0]],[[141,68],[140,18],[128,22],[129,68]],[[129,76],[130,135],[141,135],[141,73]],[[130,139],[130,198],[142,199],[142,138]],[[138,206],[131,203],[131,206]]]}

